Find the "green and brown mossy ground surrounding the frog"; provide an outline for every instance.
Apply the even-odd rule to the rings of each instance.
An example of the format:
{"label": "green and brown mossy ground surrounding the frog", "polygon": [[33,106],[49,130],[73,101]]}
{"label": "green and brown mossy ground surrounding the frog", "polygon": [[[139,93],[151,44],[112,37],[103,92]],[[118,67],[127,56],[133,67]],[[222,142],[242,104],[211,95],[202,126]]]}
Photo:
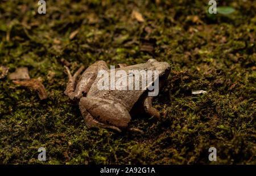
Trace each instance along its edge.
{"label": "green and brown mossy ground surrounding the frog", "polygon": [[[0,65],[10,72],[28,67],[48,92],[40,101],[35,92],[12,88],[9,78],[0,80],[0,164],[256,164],[256,2],[218,1],[236,9],[227,16],[208,16],[208,1],[159,2],[47,1],[45,15],[37,1],[0,2]],[[133,10],[144,22],[131,18]],[[142,38],[154,38],[154,50],[141,51]],[[88,130],[64,95],[61,58],[73,72],[98,59],[171,63],[154,102],[161,121],[134,117],[131,126],[144,134]],[[46,162],[37,159],[39,147]],[[217,161],[208,160],[210,147]]]}

